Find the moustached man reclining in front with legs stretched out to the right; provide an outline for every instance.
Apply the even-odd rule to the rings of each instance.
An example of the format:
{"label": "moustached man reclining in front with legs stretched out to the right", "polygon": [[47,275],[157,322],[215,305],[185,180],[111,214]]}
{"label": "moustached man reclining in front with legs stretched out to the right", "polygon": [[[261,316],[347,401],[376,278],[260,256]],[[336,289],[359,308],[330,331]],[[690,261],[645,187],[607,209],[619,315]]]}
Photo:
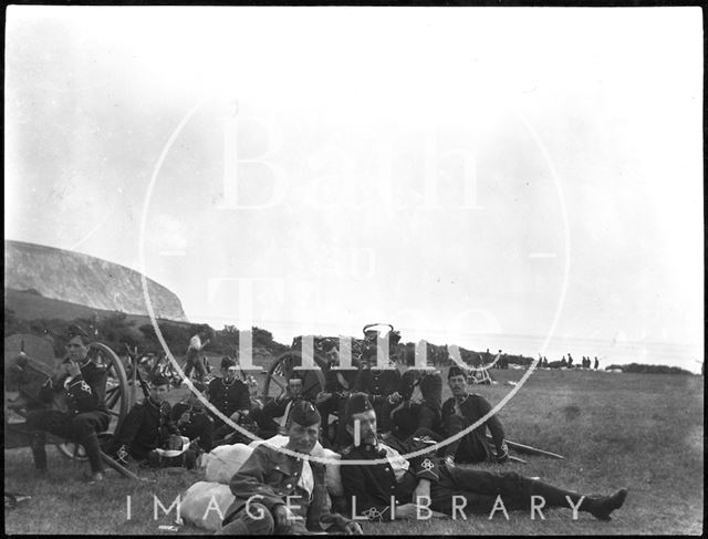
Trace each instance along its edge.
{"label": "moustached man reclining in front with legs stretched out to the right", "polygon": [[[354,431],[355,424],[358,435]],[[489,515],[492,508],[500,508],[498,497],[501,497],[506,514],[507,510],[529,510],[533,507],[532,497],[540,496],[543,499],[541,507],[573,507],[598,520],[610,520],[612,511],[622,507],[627,496],[625,489],[608,497],[581,496],[516,471],[460,468],[425,456],[404,458],[402,453],[408,453],[409,448],[395,447],[396,438],[382,440],[376,432],[376,413],[366,395],[361,393],[350,397],[346,425],[360,445],[347,447],[342,454],[343,460],[386,459],[385,464],[341,467],[352,518],[364,517],[372,521],[415,519],[423,514],[421,509],[428,508],[452,517],[458,510]]]}

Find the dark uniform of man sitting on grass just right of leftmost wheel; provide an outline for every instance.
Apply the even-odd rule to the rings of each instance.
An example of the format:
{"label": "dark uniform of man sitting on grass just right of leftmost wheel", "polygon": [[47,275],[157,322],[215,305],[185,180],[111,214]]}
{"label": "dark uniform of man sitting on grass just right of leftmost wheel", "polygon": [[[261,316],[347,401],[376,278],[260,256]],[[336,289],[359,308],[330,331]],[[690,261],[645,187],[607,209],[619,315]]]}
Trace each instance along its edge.
{"label": "dark uniform of man sitting on grass just right of leftmost wheel", "polygon": [[170,417],[169,403],[145,398],[131,408],[116,433],[114,452],[119,460],[125,460],[126,452],[136,460],[144,460],[149,452],[162,447],[170,434],[180,433]]}

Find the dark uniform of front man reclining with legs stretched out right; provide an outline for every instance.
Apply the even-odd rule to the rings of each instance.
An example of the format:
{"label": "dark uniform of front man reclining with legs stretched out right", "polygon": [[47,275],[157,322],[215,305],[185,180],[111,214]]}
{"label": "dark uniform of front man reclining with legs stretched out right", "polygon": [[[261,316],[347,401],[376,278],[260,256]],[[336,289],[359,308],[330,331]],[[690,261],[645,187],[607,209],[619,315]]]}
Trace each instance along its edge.
{"label": "dark uniform of front man reclining with legs stretched out right", "polygon": [[[385,445],[393,446],[387,439]],[[393,447],[395,448],[395,447]],[[405,447],[395,448],[399,454]],[[384,444],[376,447],[362,445],[347,447],[343,460],[374,460],[386,457]],[[576,493],[560,489],[516,471],[494,473],[480,469],[465,469],[441,464],[435,458],[423,458],[408,462],[408,469],[402,470],[398,464],[398,478],[394,463],[399,458],[391,458],[387,464],[342,466],[342,485],[347,496],[351,515],[365,517],[372,521],[389,521],[395,518],[394,505],[415,502],[413,494],[420,479],[430,481],[429,508],[434,511],[454,514],[454,506],[465,514],[487,514],[494,507],[497,496],[501,496],[507,510],[529,509],[531,496],[542,496],[546,507],[570,507],[566,497],[577,506],[581,496]],[[403,471],[403,474],[402,474]],[[580,505],[581,511],[590,511],[595,517],[606,520],[610,512],[624,501],[626,491],[617,493],[612,498],[585,498]],[[457,500],[455,497],[461,497]],[[426,501],[421,501],[426,505]],[[464,506],[464,507],[462,507]],[[498,506],[499,507],[499,506]],[[392,515],[393,511],[393,515]]]}

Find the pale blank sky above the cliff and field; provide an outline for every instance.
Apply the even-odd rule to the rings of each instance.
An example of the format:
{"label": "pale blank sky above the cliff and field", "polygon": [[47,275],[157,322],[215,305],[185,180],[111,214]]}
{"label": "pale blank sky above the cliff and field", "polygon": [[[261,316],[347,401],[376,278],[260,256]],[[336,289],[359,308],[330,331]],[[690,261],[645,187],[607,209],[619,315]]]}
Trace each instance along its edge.
{"label": "pale blank sky above the cliff and field", "polygon": [[699,8],[12,6],[6,238],[189,320],[691,371]]}

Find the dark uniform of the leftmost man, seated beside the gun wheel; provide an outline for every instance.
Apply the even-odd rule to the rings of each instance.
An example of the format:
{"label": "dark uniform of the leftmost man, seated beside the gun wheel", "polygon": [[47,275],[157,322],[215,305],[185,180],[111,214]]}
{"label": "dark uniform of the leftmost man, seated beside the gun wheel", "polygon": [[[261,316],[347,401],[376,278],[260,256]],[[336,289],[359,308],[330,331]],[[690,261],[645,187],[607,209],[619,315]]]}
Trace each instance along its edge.
{"label": "dark uniform of the leftmost man, seated beside the gun wheel", "polygon": [[101,471],[101,453],[97,433],[106,431],[111,423],[105,404],[107,373],[103,365],[86,360],[80,365],[80,374],[64,380],[50,379],[40,391],[43,402],[51,402],[56,393],[65,396],[66,411],[35,410],[28,413],[27,428],[31,433],[31,447],[35,466],[46,468],[45,433],[79,442],[86,448],[93,471]]}

